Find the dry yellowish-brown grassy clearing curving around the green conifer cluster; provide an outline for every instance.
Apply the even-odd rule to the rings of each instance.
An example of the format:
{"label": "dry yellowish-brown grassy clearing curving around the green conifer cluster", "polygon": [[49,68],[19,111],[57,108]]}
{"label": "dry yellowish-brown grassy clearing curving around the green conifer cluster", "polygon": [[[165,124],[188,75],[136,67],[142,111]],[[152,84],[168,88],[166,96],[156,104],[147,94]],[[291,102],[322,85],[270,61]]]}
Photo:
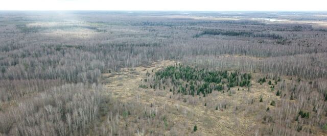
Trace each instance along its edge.
{"label": "dry yellowish-brown grassy clearing curving around the green conifer cluster", "polygon": [[[194,125],[198,130],[195,135],[251,135],[250,133],[258,131],[256,115],[265,112],[267,107],[274,110],[270,102],[279,99],[267,83],[260,85],[255,81],[258,76],[256,74],[252,74],[254,78],[250,90],[240,87],[238,91],[238,87],[235,87],[228,93],[215,91],[206,97],[173,95],[169,88],[156,91],[139,88],[139,85],[143,84],[143,79],[147,77],[147,71],[152,75],[155,71],[174,64],[176,64],[174,61],[155,62],[147,67],[134,67],[132,70],[125,68],[114,74],[106,73],[102,78],[113,98],[122,102],[135,101],[136,98],[147,105],[155,103],[160,112],[168,115],[170,123],[187,126],[184,128],[187,131],[185,135],[191,134]],[[263,102],[259,102],[260,96],[263,97]],[[219,110],[216,111],[217,105]]]}

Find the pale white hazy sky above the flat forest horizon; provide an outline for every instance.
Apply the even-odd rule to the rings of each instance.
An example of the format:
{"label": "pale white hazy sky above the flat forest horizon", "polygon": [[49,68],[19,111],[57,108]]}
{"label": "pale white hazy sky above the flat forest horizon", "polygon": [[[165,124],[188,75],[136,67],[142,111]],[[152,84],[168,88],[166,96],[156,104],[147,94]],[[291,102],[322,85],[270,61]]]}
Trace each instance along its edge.
{"label": "pale white hazy sky above the flat forest horizon", "polygon": [[1,0],[0,10],[327,11],[327,0]]}

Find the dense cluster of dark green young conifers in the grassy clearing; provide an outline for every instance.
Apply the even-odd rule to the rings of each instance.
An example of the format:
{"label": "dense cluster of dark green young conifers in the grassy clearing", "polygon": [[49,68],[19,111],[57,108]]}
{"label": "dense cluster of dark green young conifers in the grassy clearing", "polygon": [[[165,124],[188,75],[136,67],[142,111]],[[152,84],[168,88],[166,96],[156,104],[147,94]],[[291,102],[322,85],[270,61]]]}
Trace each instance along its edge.
{"label": "dense cluster of dark green young conifers in the grassy clearing", "polygon": [[[193,96],[202,94],[203,97],[205,97],[205,94],[210,94],[212,91],[221,91],[224,88],[228,88],[229,90],[229,88],[235,86],[251,86],[251,74],[240,74],[240,72],[237,71],[227,72],[227,70],[197,70],[190,66],[184,67],[179,65],[169,66],[162,71],[156,72],[155,77],[151,81],[152,84],[150,84],[149,87],[153,89],[163,88],[165,90],[165,86],[168,85],[168,83],[166,83],[168,79],[171,81],[170,87],[173,88],[170,89],[170,92]],[[144,80],[147,81],[148,79],[146,78]],[[226,87],[224,84],[227,84]]]}

